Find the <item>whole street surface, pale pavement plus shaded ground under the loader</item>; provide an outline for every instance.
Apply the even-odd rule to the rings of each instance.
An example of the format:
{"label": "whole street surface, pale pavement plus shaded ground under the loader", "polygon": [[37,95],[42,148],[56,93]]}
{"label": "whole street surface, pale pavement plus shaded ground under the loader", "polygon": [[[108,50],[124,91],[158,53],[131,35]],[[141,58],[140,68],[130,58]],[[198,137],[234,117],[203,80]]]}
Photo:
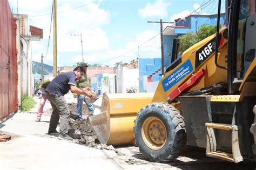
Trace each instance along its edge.
{"label": "whole street surface, pale pavement plus shaded ground under the loader", "polygon": [[[39,101],[38,97],[35,97]],[[69,103],[75,102],[67,95]],[[97,101],[100,103],[100,101]],[[50,103],[46,104],[50,108]],[[255,169],[255,164],[230,162],[205,157],[204,151],[190,148],[168,163],[150,162],[134,146],[116,147],[114,151],[90,148],[76,142],[59,140],[48,132],[50,115],[43,114],[36,123],[36,107],[31,112],[16,113],[0,124],[0,131],[12,139],[0,143],[1,169]],[[58,129],[57,129],[58,130]]]}

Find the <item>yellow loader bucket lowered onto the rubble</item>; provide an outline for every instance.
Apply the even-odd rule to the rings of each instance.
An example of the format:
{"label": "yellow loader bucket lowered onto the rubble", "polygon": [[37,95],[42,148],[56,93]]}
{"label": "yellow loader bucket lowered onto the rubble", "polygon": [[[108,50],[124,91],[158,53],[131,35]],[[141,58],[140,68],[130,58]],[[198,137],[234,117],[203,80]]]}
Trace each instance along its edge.
{"label": "yellow loader bucket lowered onto the rubble", "polygon": [[133,126],[137,113],[150,104],[154,93],[103,94],[100,113],[89,118],[101,144],[134,145]]}

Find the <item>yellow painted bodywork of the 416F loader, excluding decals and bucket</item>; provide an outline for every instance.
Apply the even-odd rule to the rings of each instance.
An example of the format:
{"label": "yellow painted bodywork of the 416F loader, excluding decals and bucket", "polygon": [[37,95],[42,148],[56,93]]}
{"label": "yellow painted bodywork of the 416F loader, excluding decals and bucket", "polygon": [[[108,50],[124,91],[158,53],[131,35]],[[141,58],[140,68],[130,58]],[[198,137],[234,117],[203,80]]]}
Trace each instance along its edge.
{"label": "yellow painted bodywork of the 416F loader, excluding decals and bucket", "polygon": [[[227,28],[221,29],[220,33],[223,33],[225,29],[227,29]],[[171,71],[167,72],[165,74],[164,78],[162,78],[159,81],[159,84],[157,86],[157,90],[156,90],[156,93],[154,94],[152,102],[154,102],[154,101],[166,102],[167,96],[174,89],[179,87],[187,79],[192,77],[192,74],[197,73],[198,70],[201,70],[201,69],[204,69],[206,71],[206,75],[200,80],[200,82],[196,86],[192,87],[192,89],[190,89],[190,91],[198,90],[198,89],[201,89],[203,87],[219,83],[221,81],[227,82],[227,70],[223,70],[223,69],[218,68],[215,65],[215,63],[214,63],[215,52],[210,57],[208,57],[201,65],[199,65],[198,68],[195,69],[195,67],[196,67],[196,52],[197,52],[197,50],[200,49],[201,47],[203,47],[205,44],[207,44],[214,37],[215,37],[215,34],[210,36],[210,37],[207,37],[204,40],[201,40],[201,42],[191,46],[189,49],[187,49],[183,53],[182,58],[181,58],[181,63],[179,65],[177,65]],[[227,66],[227,63],[225,62],[226,54],[227,54],[227,39],[224,39],[223,45],[220,46],[219,50],[218,50],[218,64],[219,65]],[[162,85],[163,80],[165,78],[169,77],[169,75],[172,74],[173,71],[178,69],[187,60],[191,61],[192,66],[193,66],[193,71],[190,74],[188,74],[186,77],[181,79],[177,84],[173,85],[169,90],[167,90],[165,92],[164,88],[163,88],[163,85]]]}

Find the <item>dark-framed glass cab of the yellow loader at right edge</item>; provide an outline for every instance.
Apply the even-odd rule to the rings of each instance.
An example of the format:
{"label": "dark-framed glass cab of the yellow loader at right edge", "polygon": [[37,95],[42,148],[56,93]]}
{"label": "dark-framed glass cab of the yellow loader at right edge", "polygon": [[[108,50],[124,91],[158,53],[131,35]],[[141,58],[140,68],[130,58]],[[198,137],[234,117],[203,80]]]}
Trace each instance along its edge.
{"label": "dark-framed glass cab of the yellow loader at right edge", "polygon": [[248,67],[255,58],[255,0],[231,1],[228,24],[228,93],[239,90]]}

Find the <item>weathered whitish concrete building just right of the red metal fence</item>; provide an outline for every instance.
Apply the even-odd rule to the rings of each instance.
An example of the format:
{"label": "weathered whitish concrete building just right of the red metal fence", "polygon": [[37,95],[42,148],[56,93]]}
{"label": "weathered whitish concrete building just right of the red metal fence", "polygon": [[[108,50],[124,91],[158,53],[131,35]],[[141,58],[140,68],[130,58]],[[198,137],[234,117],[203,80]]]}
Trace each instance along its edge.
{"label": "weathered whitish concrete building just right of the red metal fence", "polygon": [[31,40],[41,40],[43,30],[29,25],[28,15],[14,14],[17,24],[18,105],[23,94],[33,95]]}

